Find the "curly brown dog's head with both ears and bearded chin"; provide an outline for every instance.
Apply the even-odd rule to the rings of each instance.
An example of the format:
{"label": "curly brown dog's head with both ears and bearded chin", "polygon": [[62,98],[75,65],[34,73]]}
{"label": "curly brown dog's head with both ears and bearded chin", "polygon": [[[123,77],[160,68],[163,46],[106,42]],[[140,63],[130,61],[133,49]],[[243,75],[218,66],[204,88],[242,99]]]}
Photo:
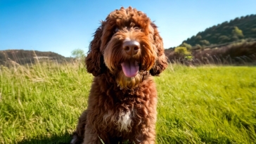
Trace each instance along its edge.
{"label": "curly brown dog's head with both ears and bearded chin", "polygon": [[162,38],[156,25],[129,7],[113,11],[101,22],[89,46],[87,71],[95,77],[110,72],[121,88],[132,89],[149,73],[167,67]]}

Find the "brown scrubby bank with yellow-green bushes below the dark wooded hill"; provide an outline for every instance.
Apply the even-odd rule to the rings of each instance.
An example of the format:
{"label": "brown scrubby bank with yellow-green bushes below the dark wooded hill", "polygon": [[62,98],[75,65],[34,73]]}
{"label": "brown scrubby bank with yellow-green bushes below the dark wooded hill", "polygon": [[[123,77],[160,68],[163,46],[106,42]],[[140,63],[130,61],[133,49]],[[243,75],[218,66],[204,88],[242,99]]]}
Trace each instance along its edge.
{"label": "brown scrubby bank with yellow-green bushes below the dark wooded hill", "polygon": [[187,51],[184,46],[165,51],[170,63],[185,65],[255,65],[256,41],[241,41],[227,46]]}

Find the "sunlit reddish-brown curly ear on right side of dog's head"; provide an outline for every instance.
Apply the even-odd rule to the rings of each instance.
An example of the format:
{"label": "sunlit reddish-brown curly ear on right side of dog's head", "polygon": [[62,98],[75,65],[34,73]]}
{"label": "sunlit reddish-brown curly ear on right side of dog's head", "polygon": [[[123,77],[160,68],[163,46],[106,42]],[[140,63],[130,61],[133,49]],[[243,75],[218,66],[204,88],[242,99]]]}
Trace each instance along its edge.
{"label": "sunlit reddish-brown curly ear on right side of dog's head", "polygon": [[157,59],[155,60],[155,65],[152,67],[152,69],[149,71],[151,75],[159,75],[165,68],[167,67],[167,58],[165,56],[165,49],[163,48],[162,44],[162,38],[160,37],[160,34],[158,32],[158,27],[151,22],[151,27],[153,27],[153,39],[154,39],[154,45],[155,45],[155,51],[158,55]]}

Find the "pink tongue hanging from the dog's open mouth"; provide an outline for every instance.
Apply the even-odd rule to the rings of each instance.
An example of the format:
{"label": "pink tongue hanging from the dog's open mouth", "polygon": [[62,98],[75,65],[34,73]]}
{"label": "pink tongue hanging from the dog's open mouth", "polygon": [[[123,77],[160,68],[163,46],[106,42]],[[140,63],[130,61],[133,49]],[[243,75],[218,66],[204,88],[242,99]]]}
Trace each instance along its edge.
{"label": "pink tongue hanging from the dog's open mouth", "polygon": [[127,60],[122,65],[122,72],[124,72],[124,75],[126,77],[135,77],[136,74],[139,72],[139,65],[136,61],[133,60]]}

